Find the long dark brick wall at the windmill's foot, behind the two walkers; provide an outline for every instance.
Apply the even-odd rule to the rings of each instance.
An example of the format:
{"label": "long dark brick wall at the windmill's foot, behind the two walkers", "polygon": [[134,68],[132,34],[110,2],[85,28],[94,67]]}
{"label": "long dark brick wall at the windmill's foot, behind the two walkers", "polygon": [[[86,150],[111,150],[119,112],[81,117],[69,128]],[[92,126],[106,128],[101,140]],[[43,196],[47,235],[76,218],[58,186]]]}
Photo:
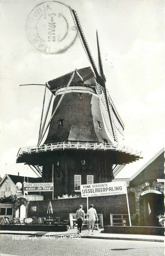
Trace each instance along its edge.
{"label": "long dark brick wall at the windmill's foot, behind the two walkers", "polygon": [[[135,198],[134,193],[129,194],[129,206],[130,212],[135,211]],[[36,206],[36,212],[28,211],[28,217],[45,216],[48,209],[48,204],[50,200],[44,201],[32,201],[30,206]],[[110,213],[112,214],[127,214],[127,202],[126,195],[117,195],[117,196],[98,196],[98,197],[89,197],[89,204],[93,203],[94,208],[98,213],[103,214],[104,224],[110,224]],[[87,212],[87,199],[86,198],[68,198],[68,199],[57,199],[51,200],[53,215],[55,217],[60,217],[61,219],[69,219],[70,213],[75,213],[79,205],[83,205],[83,210]],[[30,209],[31,207],[29,207]]]}

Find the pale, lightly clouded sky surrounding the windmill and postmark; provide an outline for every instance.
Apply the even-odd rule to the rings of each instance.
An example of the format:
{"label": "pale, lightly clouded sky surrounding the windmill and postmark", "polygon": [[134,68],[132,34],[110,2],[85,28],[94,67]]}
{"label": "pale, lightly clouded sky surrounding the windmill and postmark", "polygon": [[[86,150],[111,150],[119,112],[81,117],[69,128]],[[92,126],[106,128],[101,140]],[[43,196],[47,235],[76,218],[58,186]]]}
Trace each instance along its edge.
{"label": "pale, lightly clouded sky surrounding the windmill and postmark", "polygon": [[[37,144],[44,87],[19,84],[45,84],[90,65],[79,38],[63,54],[44,54],[30,43],[25,29],[27,18],[42,2],[0,1],[1,177],[18,171],[21,176],[35,177],[29,167],[15,162],[20,147]],[[122,144],[142,151],[144,157],[118,175],[130,177],[164,146],[165,2],[61,2],[76,10],[96,64],[98,29],[106,86],[125,124]]]}

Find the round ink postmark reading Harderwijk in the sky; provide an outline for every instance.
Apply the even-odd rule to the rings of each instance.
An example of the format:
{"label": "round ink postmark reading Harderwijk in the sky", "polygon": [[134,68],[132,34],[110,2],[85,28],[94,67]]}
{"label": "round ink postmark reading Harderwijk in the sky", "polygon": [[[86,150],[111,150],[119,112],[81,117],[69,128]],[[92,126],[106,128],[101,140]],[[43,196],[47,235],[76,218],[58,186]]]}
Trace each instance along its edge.
{"label": "round ink postmark reading Harderwijk in the sky", "polygon": [[65,52],[78,34],[70,8],[58,1],[37,5],[28,16],[26,32],[31,44],[46,54]]}

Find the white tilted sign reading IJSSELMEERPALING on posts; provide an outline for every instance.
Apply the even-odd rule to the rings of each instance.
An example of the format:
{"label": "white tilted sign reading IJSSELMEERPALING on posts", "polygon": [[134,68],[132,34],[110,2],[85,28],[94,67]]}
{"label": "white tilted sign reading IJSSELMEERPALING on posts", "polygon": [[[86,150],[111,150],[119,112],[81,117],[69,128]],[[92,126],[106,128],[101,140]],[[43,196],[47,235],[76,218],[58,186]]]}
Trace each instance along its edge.
{"label": "white tilted sign reading IJSSELMEERPALING on posts", "polygon": [[121,195],[126,194],[126,189],[125,181],[80,185],[82,197]]}

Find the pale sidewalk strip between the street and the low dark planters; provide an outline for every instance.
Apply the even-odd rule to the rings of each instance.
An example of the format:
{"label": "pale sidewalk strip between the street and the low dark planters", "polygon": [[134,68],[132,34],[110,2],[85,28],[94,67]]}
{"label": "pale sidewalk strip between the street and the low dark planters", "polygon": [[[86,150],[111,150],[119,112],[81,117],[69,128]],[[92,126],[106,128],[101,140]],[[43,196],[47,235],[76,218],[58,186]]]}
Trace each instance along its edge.
{"label": "pale sidewalk strip between the street and the low dark planters", "polygon": [[94,234],[88,234],[87,229],[83,229],[81,234],[77,234],[77,229],[68,229],[65,232],[39,232],[39,231],[1,231],[0,234],[13,234],[13,235],[28,235],[28,236],[50,236],[59,237],[61,239],[70,238],[70,236],[77,236],[80,238],[97,238],[97,239],[111,239],[111,240],[136,240],[136,241],[153,241],[164,242],[164,236],[149,236],[149,235],[132,235],[132,234],[110,234],[101,232],[103,230],[94,230]]}

